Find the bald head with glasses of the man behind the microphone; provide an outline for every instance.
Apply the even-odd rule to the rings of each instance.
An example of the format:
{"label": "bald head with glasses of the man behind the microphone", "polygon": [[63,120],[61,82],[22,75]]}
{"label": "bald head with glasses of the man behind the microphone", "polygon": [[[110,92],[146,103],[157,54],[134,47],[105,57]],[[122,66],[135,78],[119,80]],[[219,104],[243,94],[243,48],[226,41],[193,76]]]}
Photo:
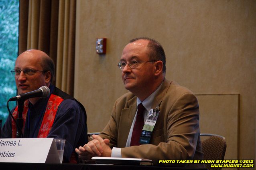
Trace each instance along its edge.
{"label": "bald head with glasses of the man behind the microphone", "polygon": [[[54,78],[53,60],[40,50],[27,50],[20,54],[15,69],[21,70],[20,74],[15,75],[18,94],[37,90],[41,86],[49,87]],[[37,100],[31,98],[30,102]]]}

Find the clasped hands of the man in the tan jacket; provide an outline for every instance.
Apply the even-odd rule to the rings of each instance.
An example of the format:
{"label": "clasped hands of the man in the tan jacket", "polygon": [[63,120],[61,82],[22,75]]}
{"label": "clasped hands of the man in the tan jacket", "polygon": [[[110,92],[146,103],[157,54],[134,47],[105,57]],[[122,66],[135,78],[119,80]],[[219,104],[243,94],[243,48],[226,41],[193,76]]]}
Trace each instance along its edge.
{"label": "clasped hands of the man in the tan jacket", "polygon": [[75,152],[82,160],[90,160],[93,156],[110,157],[112,150],[109,146],[110,140],[103,139],[99,135],[92,135],[93,140],[83,147],[75,148]]}

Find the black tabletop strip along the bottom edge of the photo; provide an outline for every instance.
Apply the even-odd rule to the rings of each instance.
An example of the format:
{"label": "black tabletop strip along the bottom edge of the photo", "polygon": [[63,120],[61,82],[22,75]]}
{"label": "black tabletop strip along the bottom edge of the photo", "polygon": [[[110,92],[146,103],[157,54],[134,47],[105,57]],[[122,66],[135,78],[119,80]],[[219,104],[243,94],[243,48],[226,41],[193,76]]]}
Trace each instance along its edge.
{"label": "black tabletop strip along the bottom edge of the photo", "polygon": [[207,170],[206,168],[180,168],[163,166],[130,166],[109,164],[40,164],[1,162],[0,170]]}

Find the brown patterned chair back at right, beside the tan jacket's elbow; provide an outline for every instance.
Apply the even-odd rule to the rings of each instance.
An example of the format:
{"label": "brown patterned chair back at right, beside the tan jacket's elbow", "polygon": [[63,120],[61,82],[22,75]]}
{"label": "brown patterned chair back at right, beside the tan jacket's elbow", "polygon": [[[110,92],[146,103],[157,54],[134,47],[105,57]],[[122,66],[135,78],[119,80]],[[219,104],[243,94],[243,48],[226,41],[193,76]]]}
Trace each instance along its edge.
{"label": "brown patterned chair back at right, beside the tan jacket's elbow", "polygon": [[[217,134],[200,134],[209,136],[202,141],[203,160],[223,160],[227,148],[226,139]],[[208,170],[221,170],[221,168],[211,168],[211,164],[205,164]]]}

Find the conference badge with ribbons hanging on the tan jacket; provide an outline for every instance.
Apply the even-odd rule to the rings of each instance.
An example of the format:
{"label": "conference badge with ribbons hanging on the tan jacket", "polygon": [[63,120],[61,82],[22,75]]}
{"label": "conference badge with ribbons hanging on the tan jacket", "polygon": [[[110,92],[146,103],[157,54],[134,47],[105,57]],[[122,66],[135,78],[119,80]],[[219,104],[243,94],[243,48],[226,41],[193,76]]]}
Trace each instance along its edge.
{"label": "conference badge with ribbons hanging on the tan jacket", "polygon": [[158,118],[158,115],[160,114],[160,104],[158,104],[155,109],[149,110],[146,122],[142,128],[139,143],[149,144],[154,126],[156,124],[156,120]]}

